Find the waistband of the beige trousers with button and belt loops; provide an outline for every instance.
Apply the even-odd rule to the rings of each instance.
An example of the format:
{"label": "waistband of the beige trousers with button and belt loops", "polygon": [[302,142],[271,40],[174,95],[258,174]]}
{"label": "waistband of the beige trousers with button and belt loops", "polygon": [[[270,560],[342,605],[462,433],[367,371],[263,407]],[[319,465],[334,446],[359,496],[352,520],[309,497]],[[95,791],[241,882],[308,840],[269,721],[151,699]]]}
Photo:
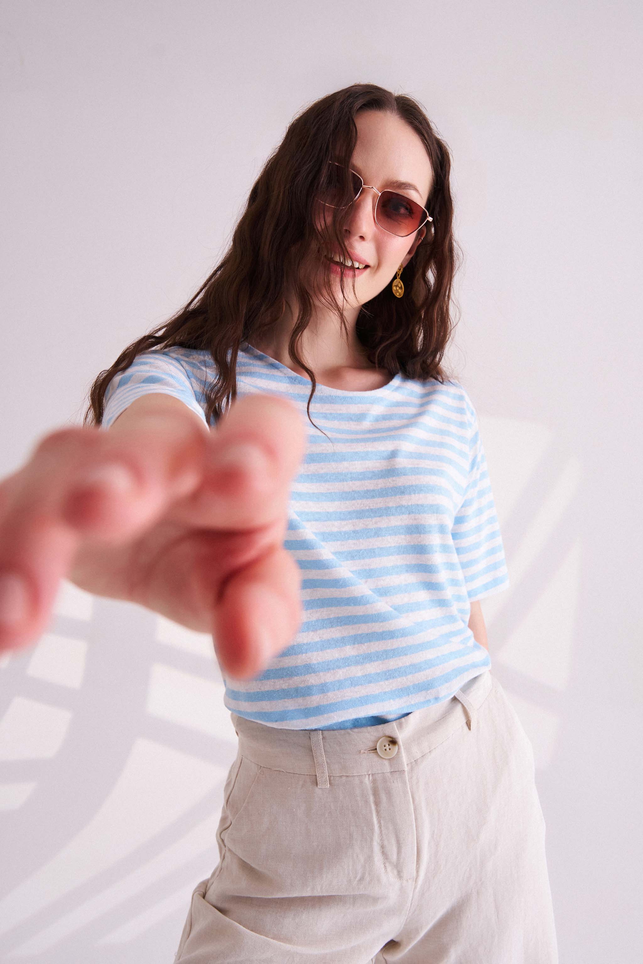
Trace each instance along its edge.
{"label": "waistband of the beige trousers with button and belt loops", "polygon": [[[401,719],[352,730],[284,730],[231,713],[239,737],[239,753],[258,766],[287,773],[315,774],[317,786],[329,787],[329,776],[357,776],[406,769],[430,753],[463,725],[469,728],[493,687],[489,669],[465,683],[454,695]],[[383,757],[378,741],[392,737],[394,756]]]}

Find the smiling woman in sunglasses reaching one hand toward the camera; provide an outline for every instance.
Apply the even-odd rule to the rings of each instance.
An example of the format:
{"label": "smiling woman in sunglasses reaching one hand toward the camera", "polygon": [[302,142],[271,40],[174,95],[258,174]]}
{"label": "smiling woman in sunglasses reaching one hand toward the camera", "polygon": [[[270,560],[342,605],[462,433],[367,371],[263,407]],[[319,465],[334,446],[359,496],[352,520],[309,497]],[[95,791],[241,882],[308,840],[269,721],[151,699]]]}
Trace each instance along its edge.
{"label": "smiling woman in sunglasses reaching one hand toward the camera", "polygon": [[3,485],[3,645],[62,576],[213,633],[239,749],[182,964],[557,960],[480,605],[496,509],[441,363],[449,171],[410,97],[312,104],[200,291]]}

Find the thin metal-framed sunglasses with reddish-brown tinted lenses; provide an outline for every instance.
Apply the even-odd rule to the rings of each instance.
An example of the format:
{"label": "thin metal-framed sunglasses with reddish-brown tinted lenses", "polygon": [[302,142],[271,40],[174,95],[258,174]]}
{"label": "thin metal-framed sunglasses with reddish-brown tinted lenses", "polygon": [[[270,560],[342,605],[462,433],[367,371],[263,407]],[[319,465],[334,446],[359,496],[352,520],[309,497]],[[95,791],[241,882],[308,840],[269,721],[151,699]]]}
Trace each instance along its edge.
{"label": "thin metal-framed sunglasses with reddish-brown tinted lenses", "polygon": [[404,238],[413,234],[427,221],[433,221],[425,207],[396,191],[378,191],[372,184],[364,184],[357,171],[345,168],[336,161],[329,161],[317,197],[327,207],[349,207],[353,201],[358,200],[364,187],[377,194],[375,224],[389,234]]}

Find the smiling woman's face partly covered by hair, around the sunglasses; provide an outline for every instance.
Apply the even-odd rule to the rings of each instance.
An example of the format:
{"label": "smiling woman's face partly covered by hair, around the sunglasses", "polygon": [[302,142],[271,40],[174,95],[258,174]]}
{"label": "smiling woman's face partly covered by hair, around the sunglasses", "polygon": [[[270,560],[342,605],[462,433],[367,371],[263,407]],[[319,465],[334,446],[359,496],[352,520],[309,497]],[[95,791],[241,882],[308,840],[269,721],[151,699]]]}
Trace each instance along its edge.
{"label": "smiling woman's face partly covered by hair, around the sunglasses", "polygon": [[[351,168],[362,176],[364,184],[379,191],[390,188],[426,207],[433,184],[428,154],[415,130],[393,114],[362,111],[355,118],[358,140]],[[394,181],[405,181],[401,187]],[[409,185],[414,185],[411,187]],[[426,225],[407,237],[390,234],[375,223],[377,194],[367,188],[353,204],[344,227],[344,242],[355,261],[367,265],[353,271],[334,265],[332,281],[335,297],[341,297],[340,275],[346,275],[344,291],[349,304],[364,305],[379,294],[393,279],[400,264],[405,265],[426,233]],[[330,220],[329,208],[320,204],[320,227]],[[355,280],[355,298],[351,280]]]}

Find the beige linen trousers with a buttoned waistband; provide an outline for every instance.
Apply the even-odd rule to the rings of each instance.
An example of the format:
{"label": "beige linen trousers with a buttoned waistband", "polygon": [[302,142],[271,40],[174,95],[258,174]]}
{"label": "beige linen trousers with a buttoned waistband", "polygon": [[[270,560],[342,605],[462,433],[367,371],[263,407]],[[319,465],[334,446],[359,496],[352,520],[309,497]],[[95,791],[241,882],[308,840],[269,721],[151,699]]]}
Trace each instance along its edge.
{"label": "beige linen trousers with a buttoned waistband", "polygon": [[489,669],[379,726],[239,737],[180,964],[556,964],[531,743]]}

